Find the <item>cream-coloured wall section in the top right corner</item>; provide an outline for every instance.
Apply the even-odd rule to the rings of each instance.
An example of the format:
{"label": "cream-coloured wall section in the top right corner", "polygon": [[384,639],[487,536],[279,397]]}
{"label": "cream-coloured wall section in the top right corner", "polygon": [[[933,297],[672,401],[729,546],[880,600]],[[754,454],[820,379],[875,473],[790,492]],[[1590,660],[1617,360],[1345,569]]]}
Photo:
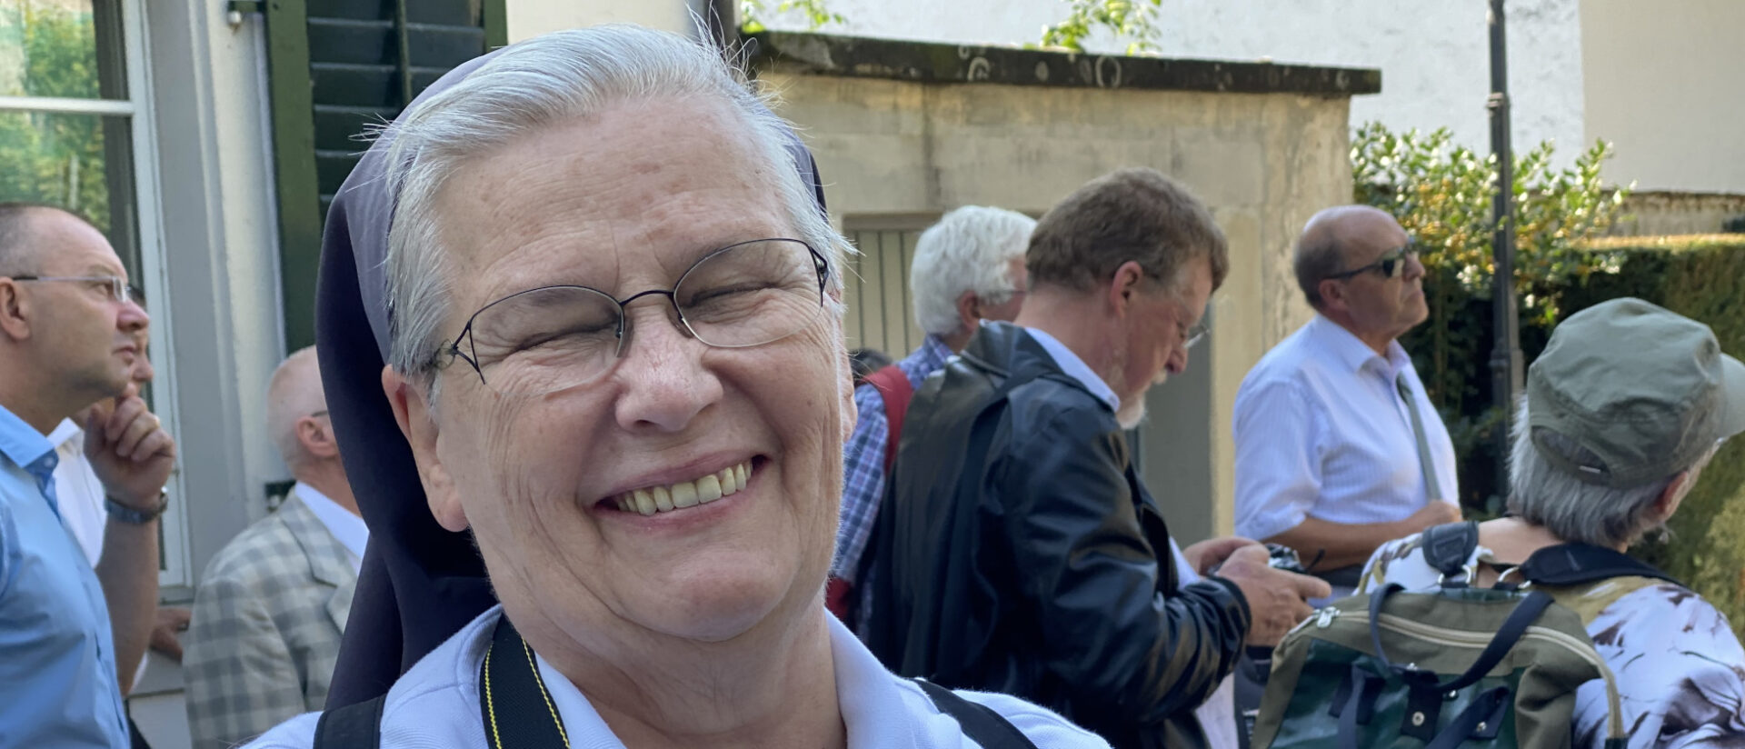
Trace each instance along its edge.
{"label": "cream-coloured wall section in the top right corner", "polygon": [[1583,0],[1581,28],[1588,138],[1618,145],[1605,176],[1745,192],[1745,2]]}

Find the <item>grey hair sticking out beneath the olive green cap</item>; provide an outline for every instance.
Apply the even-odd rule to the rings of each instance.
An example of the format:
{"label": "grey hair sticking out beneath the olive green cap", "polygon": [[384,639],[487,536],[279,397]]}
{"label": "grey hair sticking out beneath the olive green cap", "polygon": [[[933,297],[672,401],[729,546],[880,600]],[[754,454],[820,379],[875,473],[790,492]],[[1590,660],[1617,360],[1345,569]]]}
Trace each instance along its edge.
{"label": "grey hair sticking out beneath the olive green cap", "polygon": [[1509,512],[1523,520],[1543,526],[1564,541],[1591,543],[1618,548],[1635,543],[1649,531],[1663,526],[1654,519],[1654,501],[1684,475],[1680,492],[1691,491],[1703,466],[1715,456],[1717,443],[1689,466],[1670,477],[1644,485],[1612,489],[1588,484],[1574,473],[1553,466],[1539,456],[1541,449],[1557,450],[1577,464],[1604,463],[1579,442],[1555,431],[1541,431],[1536,445],[1527,426],[1527,398],[1515,414],[1515,435],[1509,449]]}

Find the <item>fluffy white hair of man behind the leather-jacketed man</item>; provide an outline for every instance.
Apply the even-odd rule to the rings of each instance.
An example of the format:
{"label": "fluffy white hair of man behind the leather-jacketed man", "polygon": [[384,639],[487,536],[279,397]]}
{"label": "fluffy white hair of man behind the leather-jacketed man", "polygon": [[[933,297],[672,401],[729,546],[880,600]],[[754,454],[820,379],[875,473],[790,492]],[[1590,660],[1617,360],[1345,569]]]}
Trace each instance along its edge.
{"label": "fluffy white hair of man behind the leather-jacketed man", "polygon": [[914,243],[909,288],[914,323],[932,335],[960,332],[958,297],[974,292],[982,304],[1005,304],[1021,292],[1010,278],[1023,260],[1037,220],[1017,211],[963,206],[946,213]]}

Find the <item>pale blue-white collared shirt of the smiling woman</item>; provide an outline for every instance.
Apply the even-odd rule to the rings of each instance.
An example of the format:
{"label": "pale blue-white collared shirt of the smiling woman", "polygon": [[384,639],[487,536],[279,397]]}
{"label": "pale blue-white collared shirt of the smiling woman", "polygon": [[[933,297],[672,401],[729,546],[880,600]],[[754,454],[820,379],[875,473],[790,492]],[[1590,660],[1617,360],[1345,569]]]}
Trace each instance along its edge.
{"label": "pale blue-white collared shirt of the smiling woman", "polygon": [[[447,642],[417,662],[393,688],[382,709],[382,749],[407,747],[482,747],[485,721],[478,709],[478,665],[485,660],[501,606],[480,615]],[[850,749],[970,749],[977,744],[963,735],[951,716],[909,679],[885,670],[836,616],[829,616],[831,656],[836,669],[836,698],[848,728]],[[551,695],[551,705],[564,719],[569,746],[581,749],[623,749],[625,744],[576,686],[537,658],[539,676]],[[970,702],[991,707],[1038,747],[1096,749],[1108,747],[1064,718],[1017,697],[961,691]],[[318,714],[305,712],[267,732],[250,749],[307,749],[314,744]]]}

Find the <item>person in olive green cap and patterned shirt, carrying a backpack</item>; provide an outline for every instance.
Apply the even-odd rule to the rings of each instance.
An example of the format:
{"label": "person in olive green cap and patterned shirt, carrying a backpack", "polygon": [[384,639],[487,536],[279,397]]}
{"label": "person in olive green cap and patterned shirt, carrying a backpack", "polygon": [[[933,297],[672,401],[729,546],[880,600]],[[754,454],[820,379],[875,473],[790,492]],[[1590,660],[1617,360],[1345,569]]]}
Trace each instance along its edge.
{"label": "person in olive green cap and patterned shirt, carrying a backpack", "polygon": [[[1560,543],[1626,550],[1661,527],[1721,442],[1745,431],[1745,365],[1707,325],[1614,299],[1558,325],[1527,372],[1509,456],[1509,517],[1478,526],[1478,585]],[[1370,559],[1365,590],[1433,587],[1419,536]],[[1632,749],[1745,746],[1745,649],[1694,592],[1647,578],[1574,606],[1618,677]],[[1605,690],[1576,697],[1574,746],[1604,744]]]}

